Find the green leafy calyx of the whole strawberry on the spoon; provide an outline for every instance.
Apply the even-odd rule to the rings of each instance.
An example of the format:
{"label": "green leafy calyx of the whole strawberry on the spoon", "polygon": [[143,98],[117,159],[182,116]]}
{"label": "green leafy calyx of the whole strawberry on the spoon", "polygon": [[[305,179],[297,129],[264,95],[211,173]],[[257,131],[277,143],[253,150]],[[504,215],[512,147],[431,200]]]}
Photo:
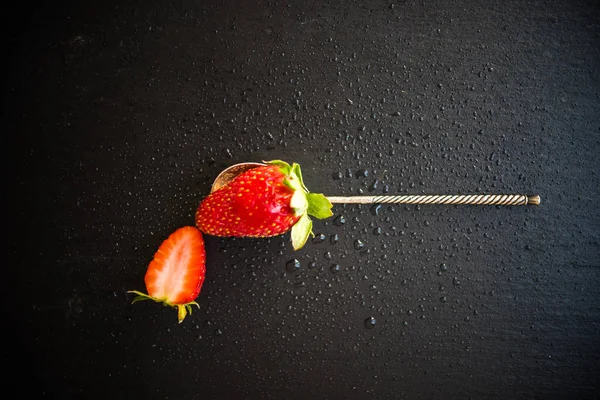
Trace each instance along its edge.
{"label": "green leafy calyx of the whole strawberry on the spoon", "polygon": [[333,215],[331,211],[333,206],[323,194],[308,191],[302,181],[299,164],[290,165],[281,160],[264,161],[264,163],[279,167],[285,175],[283,184],[294,191],[290,199],[290,207],[294,210],[295,216],[299,216],[300,219],[292,226],[292,246],[294,250],[299,250],[306,244],[309,236],[314,236],[309,215],[318,219],[329,218]]}

